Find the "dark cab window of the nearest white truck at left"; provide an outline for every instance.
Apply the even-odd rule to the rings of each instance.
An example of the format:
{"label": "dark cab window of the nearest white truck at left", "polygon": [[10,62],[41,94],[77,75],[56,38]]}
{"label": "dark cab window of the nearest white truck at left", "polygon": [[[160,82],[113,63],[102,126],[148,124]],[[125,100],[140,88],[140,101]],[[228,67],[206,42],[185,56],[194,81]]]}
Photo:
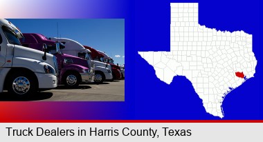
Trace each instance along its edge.
{"label": "dark cab window of the nearest white truck at left", "polygon": [[13,32],[10,28],[7,28],[6,26],[2,26],[2,29],[3,32],[6,34],[6,38],[8,39],[8,42],[10,44],[21,45],[15,32]]}

